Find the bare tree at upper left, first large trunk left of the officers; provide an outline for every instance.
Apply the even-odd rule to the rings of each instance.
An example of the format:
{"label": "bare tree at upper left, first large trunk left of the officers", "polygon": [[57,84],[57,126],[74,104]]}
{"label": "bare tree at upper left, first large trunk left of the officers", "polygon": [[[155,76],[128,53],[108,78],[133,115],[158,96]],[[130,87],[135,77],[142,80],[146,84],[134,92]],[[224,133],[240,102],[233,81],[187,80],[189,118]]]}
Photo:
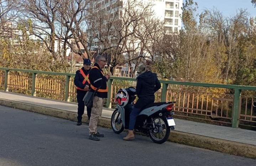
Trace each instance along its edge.
{"label": "bare tree at upper left, first large trunk left of the officers", "polygon": [[19,7],[25,19],[32,20],[32,34],[44,41],[47,49],[56,59],[57,53],[54,49],[56,13],[62,3],[59,0],[20,0],[12,3]]}

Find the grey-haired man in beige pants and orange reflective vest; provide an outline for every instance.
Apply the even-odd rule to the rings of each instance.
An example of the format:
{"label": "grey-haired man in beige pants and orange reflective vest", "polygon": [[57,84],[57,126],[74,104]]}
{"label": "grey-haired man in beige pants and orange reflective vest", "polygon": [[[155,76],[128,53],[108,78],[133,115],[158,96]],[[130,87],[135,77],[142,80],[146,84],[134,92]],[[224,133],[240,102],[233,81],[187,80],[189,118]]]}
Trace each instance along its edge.
{"label": "grey-haired man in beige pants and orange reflective vest", "polygon": [[89,122],[89,139],[99,141],[99,137],[104,137],[104,134],[100,134],[97,130],[98,120],[102,114],[102,107],[104,98],[108,97],[108,86],[107,81],[110,74],[104,74],[103,68],[106,64],[106,58],[102,55],[98,55],[95,58],[95,64],[90,71],[90,83],[91,90],[98,91],[95,93],[92,106],[92,114]]}

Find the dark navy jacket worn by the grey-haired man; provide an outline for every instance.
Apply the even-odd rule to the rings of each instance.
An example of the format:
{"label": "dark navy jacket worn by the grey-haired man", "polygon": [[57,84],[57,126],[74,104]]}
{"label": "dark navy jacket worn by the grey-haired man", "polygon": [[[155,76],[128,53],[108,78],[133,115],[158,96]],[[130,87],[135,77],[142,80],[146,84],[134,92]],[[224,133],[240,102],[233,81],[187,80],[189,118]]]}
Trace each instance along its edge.
{"label": "dark navy jacket worn by the grey-haired man", "polygon": [[[94,64],[94,66],[97,66],[100,69],[100,66],[98,64]],[[89,80],[91,85],[93,85],[96,88],[106,90],[107,89],[107,79],[106,77],[101,73],[101,69],[99,70],[97,68],[92,68],[90,70],[89,74]],[[102,71],[103,72],[103,71]],[[94,91],[92,88],[90,91]],[[99,92],[97,91],[95,96],[101,97],[101,98],[108,98],[108,92]]]}

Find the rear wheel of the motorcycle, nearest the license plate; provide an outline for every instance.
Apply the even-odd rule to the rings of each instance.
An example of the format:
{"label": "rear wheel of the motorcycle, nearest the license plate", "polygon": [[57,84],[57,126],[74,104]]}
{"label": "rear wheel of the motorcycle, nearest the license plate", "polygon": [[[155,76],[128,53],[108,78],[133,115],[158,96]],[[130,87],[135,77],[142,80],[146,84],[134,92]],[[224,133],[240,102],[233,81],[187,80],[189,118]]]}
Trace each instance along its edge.
{"label": "rear wheel of the motorcycle, nearest the license plate", "polygon": [[149,137],[152,141],[157,144],[162,144],[169,138],[170,135],[170,127],[167,123],[166,117],[158,116],[153,118],[151,127],[149,129]]}

